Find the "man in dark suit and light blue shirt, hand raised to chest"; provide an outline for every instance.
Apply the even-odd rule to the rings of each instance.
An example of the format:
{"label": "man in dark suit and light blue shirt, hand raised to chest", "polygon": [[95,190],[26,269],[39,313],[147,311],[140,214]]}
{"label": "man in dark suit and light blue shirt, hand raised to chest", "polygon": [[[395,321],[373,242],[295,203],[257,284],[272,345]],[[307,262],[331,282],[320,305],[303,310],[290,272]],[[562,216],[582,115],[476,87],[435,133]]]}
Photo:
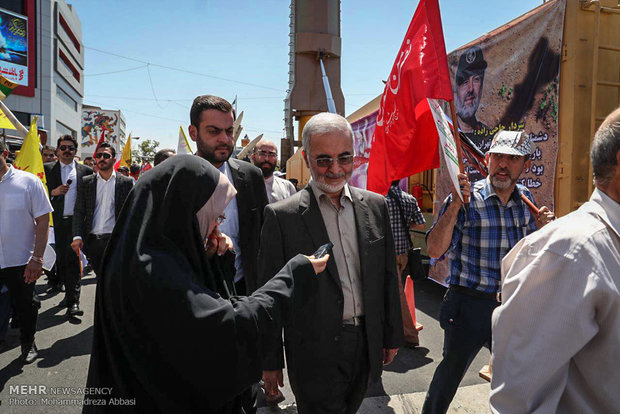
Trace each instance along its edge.
{"label": "man in dark suit and light blue shirt, hand raised to chest", "polygon": [[75,162],[77,141],[71,135],[58,138],[56,145],[58,161],[44,164],[47,188],[54,212],[54,236],[56,238],[56,272],[60,283],[65,285],[65,299],[60,303],[67,307],[67,316],[80,316],[80,267],[79,258],[71,249],[73,210],[77,189],[92,168]]}

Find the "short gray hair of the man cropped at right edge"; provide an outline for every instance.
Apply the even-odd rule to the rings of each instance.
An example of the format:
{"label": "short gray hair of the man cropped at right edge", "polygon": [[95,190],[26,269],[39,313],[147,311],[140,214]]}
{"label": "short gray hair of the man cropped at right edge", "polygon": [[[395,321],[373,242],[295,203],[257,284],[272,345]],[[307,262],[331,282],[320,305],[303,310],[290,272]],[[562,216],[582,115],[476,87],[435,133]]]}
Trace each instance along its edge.
{"label": "short gray hair of the man cropped at right edge", "polygon": [[604,122],[596,131],[590,149],[594,181],[600,185],[609,184],[614,168],[618,165],[620,119],[613,121],[615,122]]}

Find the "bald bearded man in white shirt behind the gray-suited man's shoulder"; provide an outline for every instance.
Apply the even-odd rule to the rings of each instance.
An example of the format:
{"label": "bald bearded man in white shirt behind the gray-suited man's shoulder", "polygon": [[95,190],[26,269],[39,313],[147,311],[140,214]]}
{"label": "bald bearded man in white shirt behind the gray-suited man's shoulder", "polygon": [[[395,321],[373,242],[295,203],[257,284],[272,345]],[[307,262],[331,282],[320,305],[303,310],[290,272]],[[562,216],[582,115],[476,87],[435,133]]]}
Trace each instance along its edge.
{"label": "bald bearded man in white shirt behind the gray-suited man's shoulder", "polygon": [[276,177],[273,172],[278,162],[278,147],[271,141],[261,139],[254,146],[252,162],[263,172],[269,204],[289,198],[297,192],[290,181]]}

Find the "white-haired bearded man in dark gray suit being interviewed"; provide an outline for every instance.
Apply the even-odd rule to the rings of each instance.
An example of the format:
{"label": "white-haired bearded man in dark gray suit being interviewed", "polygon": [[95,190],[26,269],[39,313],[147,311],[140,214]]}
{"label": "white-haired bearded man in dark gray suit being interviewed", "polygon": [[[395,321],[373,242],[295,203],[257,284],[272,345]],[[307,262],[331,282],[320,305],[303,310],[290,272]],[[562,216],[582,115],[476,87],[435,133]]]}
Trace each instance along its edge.
{"label": "white-haired bearded man in dark gray suit being interviewed", "polygon": [[403,343],[390,218],[383,197],[347,184],[354,154],[346,119],[315,115],[302,139],[312,180],[265,208],[259,282],[298,253],[334,246],[324,273],[295,279],[290,312],[265,332],[263,380],[272,395],[283,385],[282,322],[299,413],[355,413],[369,379]]}

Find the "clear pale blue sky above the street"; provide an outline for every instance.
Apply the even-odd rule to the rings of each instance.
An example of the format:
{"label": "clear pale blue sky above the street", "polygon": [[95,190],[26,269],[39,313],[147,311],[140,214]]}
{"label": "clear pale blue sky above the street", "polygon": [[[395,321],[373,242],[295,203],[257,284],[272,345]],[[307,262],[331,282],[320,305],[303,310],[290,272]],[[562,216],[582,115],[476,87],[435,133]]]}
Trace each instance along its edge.
{"label": "clear pale blue sky above the street", "polygon": [[[232,101],[237,95],[238,109],[244,111],[243,134],[254,138],[264,133],[279,146],[288,86],[289,1],[68,2],[82,22],[85,104],[120,109],[134,136],[176,148],[179,125],[189,124],[194,97],[208,93]],[[342,0],[347,115],[382,92],[381,80],[389,74],[417,4]],[[446,49],[540,4],[440,1]]]}

